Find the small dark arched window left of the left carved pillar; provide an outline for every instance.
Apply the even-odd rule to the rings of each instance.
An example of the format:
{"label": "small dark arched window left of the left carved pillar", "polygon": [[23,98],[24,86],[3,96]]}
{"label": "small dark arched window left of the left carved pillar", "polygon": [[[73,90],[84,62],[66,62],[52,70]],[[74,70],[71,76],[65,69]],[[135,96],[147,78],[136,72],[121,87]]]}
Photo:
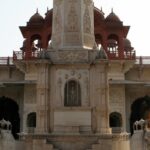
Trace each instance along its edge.
{"label": "small dark arched window left of the left carved pillar", "polygon": [[36,127],[36,113],[35,112],[28,114],[28,116],[27,116],[27,127],[32,127],[32,128]]}

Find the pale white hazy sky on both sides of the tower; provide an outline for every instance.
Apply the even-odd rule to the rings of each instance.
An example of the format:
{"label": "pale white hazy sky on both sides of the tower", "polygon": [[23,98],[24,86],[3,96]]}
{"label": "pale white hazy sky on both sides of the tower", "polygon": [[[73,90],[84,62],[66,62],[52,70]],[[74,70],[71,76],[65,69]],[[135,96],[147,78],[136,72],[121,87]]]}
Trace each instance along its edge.
{"label": "pale white hazy sky on both sides of the tower", "polygon": [[[23,37],[19,26],[25,26],[39,9],[45,16],[53,0],[2,0],[0,5],[0,56],[12,56],[13,50],[22,46]],[[103,8],[105,16],[114,12],[124,25],[130,25],[128,39],[137,55],[150,56],[150,7],[148,0],[94,0],[95,6]]]}

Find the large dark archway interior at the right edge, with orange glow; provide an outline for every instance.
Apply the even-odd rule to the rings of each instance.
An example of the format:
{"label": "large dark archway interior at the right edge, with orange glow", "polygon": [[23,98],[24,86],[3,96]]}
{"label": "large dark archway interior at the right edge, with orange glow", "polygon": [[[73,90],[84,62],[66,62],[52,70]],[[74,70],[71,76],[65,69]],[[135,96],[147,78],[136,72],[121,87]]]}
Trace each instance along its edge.
{"label": "large dark archway interior at the right edge, with orange glow", "polygon": [[136,99],[131,105],[130,131],[133,134],[133,124],[140,119],[150,119],[150,97],[144,96]]}

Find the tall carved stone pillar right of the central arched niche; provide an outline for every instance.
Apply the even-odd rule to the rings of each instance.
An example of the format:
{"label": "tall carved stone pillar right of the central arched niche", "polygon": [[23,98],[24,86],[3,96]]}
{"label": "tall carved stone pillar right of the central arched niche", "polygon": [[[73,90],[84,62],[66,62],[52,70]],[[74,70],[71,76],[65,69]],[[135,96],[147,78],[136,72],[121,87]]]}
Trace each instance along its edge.
{"label": "tall carved stone pillar right of the central arched niche", "polygon": [[[95,74],[95,75],[94,75]],[[107,65],[97,64],[95,67],[94,95],[92,122],[93,131],[101,134],[111,133],[109,128],[109,86],[107,79]]]}

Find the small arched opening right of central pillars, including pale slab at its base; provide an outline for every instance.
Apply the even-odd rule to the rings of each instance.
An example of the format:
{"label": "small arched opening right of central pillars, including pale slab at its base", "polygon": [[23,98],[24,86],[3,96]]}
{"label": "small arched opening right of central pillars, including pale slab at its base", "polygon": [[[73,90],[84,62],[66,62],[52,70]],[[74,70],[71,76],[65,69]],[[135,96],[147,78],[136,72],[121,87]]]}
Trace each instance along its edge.
{"label": "small arched opening right of central pillars, including pale slab at its base", "polygon": [[122,116],[118,112],[113,112],[109,115],[109,125],[112,128],[112,132],[121,132]]}

